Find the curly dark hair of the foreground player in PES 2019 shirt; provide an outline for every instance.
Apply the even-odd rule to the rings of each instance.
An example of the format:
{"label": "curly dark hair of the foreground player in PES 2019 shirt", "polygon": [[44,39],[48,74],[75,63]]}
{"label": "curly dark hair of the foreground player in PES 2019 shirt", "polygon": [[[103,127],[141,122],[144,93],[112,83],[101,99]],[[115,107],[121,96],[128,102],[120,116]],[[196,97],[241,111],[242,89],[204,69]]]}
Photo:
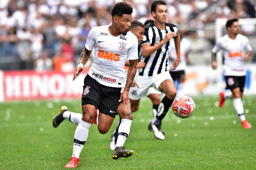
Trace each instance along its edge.
{"label": "curly dark hair of the foreground player in PES 2019 shirt", "polygon": [[114,5],[114,7],[111,10],[111,15],[118,15],[118,16],[123,16],[123,14],[132,14],[133,9],[132,7],[124,2],[118,2]]}

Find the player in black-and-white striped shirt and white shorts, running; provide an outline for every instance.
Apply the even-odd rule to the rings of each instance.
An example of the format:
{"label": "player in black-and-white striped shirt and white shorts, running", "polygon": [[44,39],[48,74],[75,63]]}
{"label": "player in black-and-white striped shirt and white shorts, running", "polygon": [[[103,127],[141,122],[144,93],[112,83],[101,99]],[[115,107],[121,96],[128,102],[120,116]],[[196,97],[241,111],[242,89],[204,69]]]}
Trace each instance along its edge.
{"label": "player in black-and-white striped shirt and white shorts, running", "polygon": [[131,87],[129,98],[132,106],[136,107],[140,99],[147,95],[150,87],[165,94],[159,104],[157,115],[149,124],[149,130],[154,132],[155,137],[164,139],[159,125],[176,96],[176,88],[169,73],[168,49],[174,38],[177,51],[177,58],[171,67],[174,70],[180,60],[180,35],[175,25],[166,23],[167,6],[164,1],[154,1],[151,5],[151,14],[155,22],[145,28],[142,42],[142,60],[146,63],[146,67],[135,77],[134,80],[140,88]]}

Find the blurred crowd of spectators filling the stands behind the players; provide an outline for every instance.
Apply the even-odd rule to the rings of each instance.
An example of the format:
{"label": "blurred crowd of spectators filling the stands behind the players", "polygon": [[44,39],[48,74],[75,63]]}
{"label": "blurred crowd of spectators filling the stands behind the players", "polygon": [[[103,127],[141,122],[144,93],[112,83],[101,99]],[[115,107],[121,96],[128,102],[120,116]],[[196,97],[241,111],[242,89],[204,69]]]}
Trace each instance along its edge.
{"label": "blurred crowd of spectators filling the stands behind the players", "polygon": [[[21,69],[72,70],[92,27],[111,24],[117,0],[1,0],[0,62],[31,62]],[[152,0],[124,0],[133,20],[152,19]],[[190,36],[216,18],[256,17],[256,0],[166,0],[168,21]],[[217,5],[216,5],[217,4]],[[211,8],[214,6],[214,8]],[[255,31],[255,28],[252,28]],[[196,35],[195,35],[196,34]],[[214,39],[214,34],[203,36]],[[1,70],[1,68],[0,68]]]}

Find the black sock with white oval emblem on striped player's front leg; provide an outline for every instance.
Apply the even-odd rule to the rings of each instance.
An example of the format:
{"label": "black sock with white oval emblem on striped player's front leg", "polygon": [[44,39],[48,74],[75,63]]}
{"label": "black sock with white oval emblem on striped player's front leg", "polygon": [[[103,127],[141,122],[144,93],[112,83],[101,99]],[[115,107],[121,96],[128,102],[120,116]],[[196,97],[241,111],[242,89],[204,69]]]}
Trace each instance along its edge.
{"label": "black sock with white oval emblem on striped player's front leg", "polygon": [[167,114],[169,108],[171,107],[173,99],[170,100],[166,96],[162,99],[161,103],[159,104],[156,119],[162,121],[164,116]]}

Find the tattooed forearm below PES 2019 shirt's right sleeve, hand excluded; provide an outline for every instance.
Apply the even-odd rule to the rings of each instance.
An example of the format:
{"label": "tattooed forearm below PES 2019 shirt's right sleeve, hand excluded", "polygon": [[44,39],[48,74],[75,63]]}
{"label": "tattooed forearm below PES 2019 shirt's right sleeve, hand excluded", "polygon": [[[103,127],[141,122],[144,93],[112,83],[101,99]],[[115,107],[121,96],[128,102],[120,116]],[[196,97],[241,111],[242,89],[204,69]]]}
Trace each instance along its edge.
{"label": "tattooed forearm below PES 2019 shirt's right sleeve, hand excluded", "polygon": [[127,75],[127,80],[126,84],[124,87],[124,91],[129,91],[130,87],[132,85],[133,79],[135,77],[136,71],[137,71],[137,63],[138,60],[129,60],[129,69],[128,69],[128,75]]}

